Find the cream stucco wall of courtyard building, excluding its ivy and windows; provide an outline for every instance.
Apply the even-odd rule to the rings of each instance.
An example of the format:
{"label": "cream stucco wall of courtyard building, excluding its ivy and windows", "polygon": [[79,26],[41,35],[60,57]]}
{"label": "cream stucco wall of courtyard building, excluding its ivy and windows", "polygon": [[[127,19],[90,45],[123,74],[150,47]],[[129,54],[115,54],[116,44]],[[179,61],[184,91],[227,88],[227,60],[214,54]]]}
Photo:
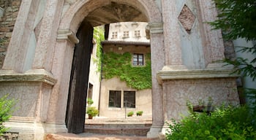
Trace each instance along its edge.
{"label": "cream stucco wall of courtyard building, excluding its ivy and windows", "polygon": [[[145,31],[145,28],[143,30]],[[122,33],[122,31],[120,31],[120,33]],[[144,38],[146,39],[145,36]],[[151,52],[149,42],[144,42],[144,44],[142,42],[137,43],[138,44],[135,44],[135,42],[102,42],[103,53],[114,52],[117,54],[123,54],[124,52],[129,52],[130,55],[143,54],[143,66],[146,66],[146,55]],[[130,63],[132,66],[132,59],[127,63]],[[105,63],[102,63],[102,65],[104,64]],[[127,82],[121,81],[120,77],[106,79],[104,77],[104,71],[102,71],[102,73],[99,116],[117,117],[118,119],[118,117],[124,118],[128,112],[134,112],[136,115],[136,112],[138,111],[143,111],[143,115],[147,117],[152,116],[151,89],[136,90],[135,88],[128,86]],[[121,106],[110,106],[110,90],[121,91]],[[127,107],[127,110],[125,109],[124,91],[135,92],[134,108]]]}

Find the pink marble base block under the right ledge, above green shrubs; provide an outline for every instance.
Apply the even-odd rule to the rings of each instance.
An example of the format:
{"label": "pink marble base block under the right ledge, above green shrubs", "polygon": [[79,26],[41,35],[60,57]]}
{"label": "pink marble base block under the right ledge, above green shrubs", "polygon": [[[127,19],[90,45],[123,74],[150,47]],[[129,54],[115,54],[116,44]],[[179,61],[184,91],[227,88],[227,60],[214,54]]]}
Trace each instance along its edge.
{"label": "pink marble base block under the right ledge, above green shrubs", "polygon": [[167,80],[162,86],[165,120],[178,120],[181,114],[188,114],[188,101],[193,105],[198,105],[200,100],[207,104],[208,98],[212,98],[214,106],[222,103],[239,104],[236,78],[176,79]]}

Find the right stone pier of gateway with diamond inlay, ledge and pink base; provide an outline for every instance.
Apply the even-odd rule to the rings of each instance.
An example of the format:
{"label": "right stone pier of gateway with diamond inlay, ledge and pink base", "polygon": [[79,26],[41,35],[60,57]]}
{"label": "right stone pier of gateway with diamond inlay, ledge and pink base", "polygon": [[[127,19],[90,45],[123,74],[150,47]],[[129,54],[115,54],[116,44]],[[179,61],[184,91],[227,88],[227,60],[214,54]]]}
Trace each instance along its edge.
{"label": "right stone pier of gateway with diamond inlay, ledge and pink base", "polygon": [[[164,122],[170,119],[179,120],[180,114],[186,115],[187,101],[198,105],[198,101],[202,100],[207,104],[208,98],[211,98],[215,106],[222,102],[239,104],[236,90],[237,75],[231,75],[233,67],[216,62],[224,58],[222,35],[218,30],[212,31],[211,26],[205,23],[216,19],[213,1],[162,0],[162,5],[164,34],[165,30],[170,30],[168,28],[176,31],[172,36],[168,35],[170,33],[165,34],[167,61],[157,73],[159,84],[162,85]],[[181,10],[176,11],[176,7]],[[165,18],[175,23],[170,24],[171,22]],[[173,27],[165,28],[166,25]],[[176,44],[174,47],[178,50],[178,55],[171,54],[168,50],[171,43]],[[168,60],[177,61],[174,63]],[[165,129],[166,125],[163,126],[162,133],[166,133]]]}

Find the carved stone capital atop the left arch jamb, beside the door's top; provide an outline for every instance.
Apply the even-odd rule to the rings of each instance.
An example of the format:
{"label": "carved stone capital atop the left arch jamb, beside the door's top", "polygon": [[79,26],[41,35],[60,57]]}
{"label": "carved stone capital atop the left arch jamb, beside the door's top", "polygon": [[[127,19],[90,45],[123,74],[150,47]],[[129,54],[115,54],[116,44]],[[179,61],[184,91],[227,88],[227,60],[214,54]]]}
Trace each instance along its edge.
{"label": "carved stone capital atop the left arch jamb, beside the door's top", "polygon": [[57,40],[67,39],[74,44],[78,44],[79,39],[69,29],[61,29],[58,31]]}

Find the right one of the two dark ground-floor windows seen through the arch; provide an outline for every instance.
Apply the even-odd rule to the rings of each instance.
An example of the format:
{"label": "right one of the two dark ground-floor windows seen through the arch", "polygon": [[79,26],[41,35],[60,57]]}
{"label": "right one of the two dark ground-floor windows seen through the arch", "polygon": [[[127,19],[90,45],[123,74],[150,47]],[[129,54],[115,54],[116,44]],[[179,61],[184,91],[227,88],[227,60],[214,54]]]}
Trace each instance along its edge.
{"label": "right one of the two dark ground-floor windows seen through the arch", "polygon": [[135,108],[135,91],[124,91],[124,107]]}

